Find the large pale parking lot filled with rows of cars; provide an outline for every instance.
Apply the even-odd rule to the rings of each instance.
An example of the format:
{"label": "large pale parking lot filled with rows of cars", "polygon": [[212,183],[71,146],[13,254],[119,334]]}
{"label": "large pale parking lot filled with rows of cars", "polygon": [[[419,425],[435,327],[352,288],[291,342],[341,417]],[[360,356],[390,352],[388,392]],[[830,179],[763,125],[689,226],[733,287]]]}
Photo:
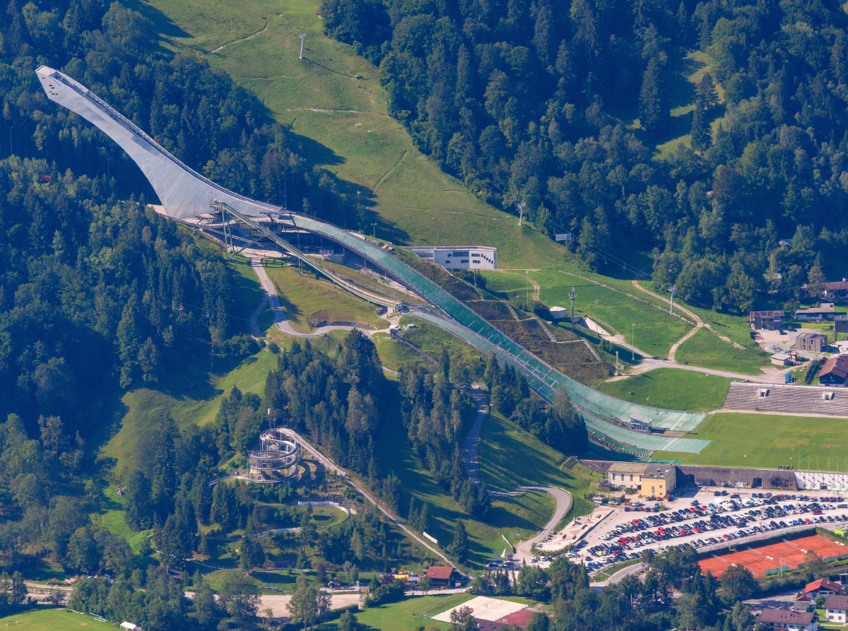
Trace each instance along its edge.
{"label": "large pale parking lot filled with rows of cars", "polygon": [[644,550],[662,553],[672,546],[713,550],[739,539],[768,537],[803,526],[845,527],[848,503],[826,491],[774,493],[700,489],[695,497],[616,507],[616,511],[567,553],[596,570],[635,559]]}

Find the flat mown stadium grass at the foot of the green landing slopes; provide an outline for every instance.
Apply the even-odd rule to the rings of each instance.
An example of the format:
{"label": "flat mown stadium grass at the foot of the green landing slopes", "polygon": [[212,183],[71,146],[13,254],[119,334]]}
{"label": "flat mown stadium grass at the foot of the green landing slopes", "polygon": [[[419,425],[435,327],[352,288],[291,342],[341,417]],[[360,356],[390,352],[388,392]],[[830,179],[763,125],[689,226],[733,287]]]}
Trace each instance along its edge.
{"label": "flat mown stadium grass at the foot of the green landing slopes", "polygon": [[[655,458],[679,458],[685,464],[747,466],[773,469],[779,465],[801,468],[807,458],[812,470],[845,472],[848,430],[845,419],[770,416],[767,414],[713,414],[686,438],[711,440],[697,454],[654,452]],[[791,458],[791,460],[789,460]],[[828,462],[829,458],[829,462]]]}

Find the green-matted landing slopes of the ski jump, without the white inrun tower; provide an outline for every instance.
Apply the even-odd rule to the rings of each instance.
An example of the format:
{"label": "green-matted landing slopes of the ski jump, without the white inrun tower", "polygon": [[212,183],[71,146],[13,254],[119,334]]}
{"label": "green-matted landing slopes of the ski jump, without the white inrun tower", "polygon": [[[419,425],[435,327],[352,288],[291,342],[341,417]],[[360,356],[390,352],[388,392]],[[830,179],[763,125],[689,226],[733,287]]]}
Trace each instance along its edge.
{"label": "green-matted landing slopes of the ski jump, without the white inrun tower", "polygon": [[[413,315],[416,315],[422,320],[429,321],[445,331],[453,333],[458,338],[471,343],[472,346],[483,353],[488,354],[490,350],[494,350],[500,361],[509,361],[518,370],[522,371],[530,387],[550,403],[555,401],[556,391],[562,387],[566,388],[566,393],[572,401],[584,410],[589,411],[592,415],[628,422],[631,414],[638,414],[639,416],[648,416],[653,419],[654,427],[674,429],[679,432],[694,429],[706,417],[706,414],[691,414],[679,410],[662,410],[661,408],[628,403],[628,401],[616,399],[608,394],[603,394],[593,388],[589,388],[589,386],[585,386],[583,383],[578,383],[566,377],[560,371],[555,370],[552,366],[544,363],[544,361],[539,360],[529,353],[527,349],[524,349],[521,345],[513,342],[510,338],[507,338],[503,333],[492,327],[487,321],[468,309],[465,304],[462,304],[459,300],[444,291],[443,288],[438,287],[436,283],[421,276],[421,274],[413,270],[410,266],[405,265],[402,261],[396,259],[392,254],[388,254],[388,252],[379,248],[377,245],[369,243],[359,236],[355,236],[354,233],[323,221],[315,221],[304,216],[297,216],[294,222],[295,225],[304,228],[304,230],[321,234],[337,243],[341,243],[345,248],[349,248],[356,254],[370,260],[375,265],[380,266],[390,274],[393,274],[393,276],[399,278],[410,288],[416,290],[417,293],[420,293],[421,296],[428,299],[432,304],[444,310],[444,313],[449,315],[453,321],[422,310],[416,310]],[[457,326],[457,323],[461,326]],[[666,436],[633,432],[615,422],[601,421],[591,415],[585,416],[587,424],[594,427],[598,432],[615,440],[639,447],[640,449],[666,450],[670,447],[673,451],[697,453],[710,443],[708,440],[669,438]]]}

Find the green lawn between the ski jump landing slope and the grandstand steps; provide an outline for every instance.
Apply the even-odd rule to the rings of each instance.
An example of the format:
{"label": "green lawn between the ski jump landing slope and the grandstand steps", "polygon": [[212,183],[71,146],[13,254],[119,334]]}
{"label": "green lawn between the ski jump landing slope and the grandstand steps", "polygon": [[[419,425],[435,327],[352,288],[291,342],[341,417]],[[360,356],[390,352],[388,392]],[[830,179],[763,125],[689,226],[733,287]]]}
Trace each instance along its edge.
{"label": "green lawn between the ski jump landing slope and the grandstand steps", "polygon": [[724,405],[731,381],[729,377],[703,372],[658,368],[627,379],[602,383],[597,389],[640,405],[646,405],[650,397],[650,405],[657,407],[706,412],[718,410]]}

